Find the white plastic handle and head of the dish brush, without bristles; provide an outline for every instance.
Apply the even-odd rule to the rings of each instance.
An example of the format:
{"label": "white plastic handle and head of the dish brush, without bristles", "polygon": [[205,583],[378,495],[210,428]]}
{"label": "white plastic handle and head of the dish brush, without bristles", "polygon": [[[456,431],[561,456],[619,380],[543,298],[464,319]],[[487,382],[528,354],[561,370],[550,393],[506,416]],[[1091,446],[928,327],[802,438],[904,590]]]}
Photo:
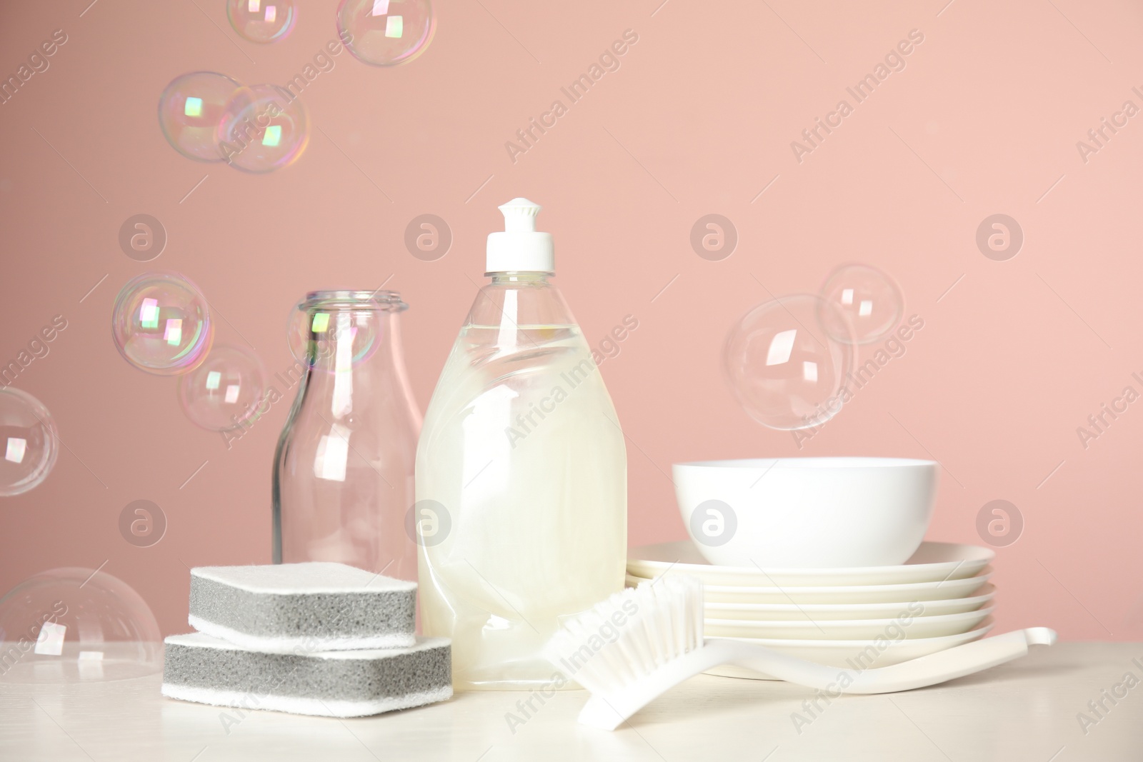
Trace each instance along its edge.
{"label": "white plastic handle and head of the dish brush, without bristles", "polygon": [[[1028,653],[1029,645],[1050,645],[1056,633],[1031,627],[957,645],[902,664],[871,669],[829,667],[745,641],[714,639],[628,688],[593,695],[580,713],[580,722],[615,730],[636,712],[685,680],[724,664],[734,664],[786,682],[816,688],[830,695],[890,693],[935,685],[988,669]],[[856,653],[854,655],[857,656]]]}

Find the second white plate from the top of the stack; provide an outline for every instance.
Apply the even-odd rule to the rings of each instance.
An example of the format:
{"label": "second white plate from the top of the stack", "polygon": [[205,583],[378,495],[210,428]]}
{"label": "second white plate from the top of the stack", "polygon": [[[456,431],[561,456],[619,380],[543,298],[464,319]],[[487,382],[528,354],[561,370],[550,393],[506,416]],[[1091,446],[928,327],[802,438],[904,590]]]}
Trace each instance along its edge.
{"label": "second white plate from the top of the stack", "polygon": [[[724,587],[703,585],[708,603],[893,603],[895,601],[941,601],[968,597],[992,576],[992,569],[968,579],[950,579],[913,585],[840,585],[837,587]],[[628,585],[648,579],[628,575]]]}

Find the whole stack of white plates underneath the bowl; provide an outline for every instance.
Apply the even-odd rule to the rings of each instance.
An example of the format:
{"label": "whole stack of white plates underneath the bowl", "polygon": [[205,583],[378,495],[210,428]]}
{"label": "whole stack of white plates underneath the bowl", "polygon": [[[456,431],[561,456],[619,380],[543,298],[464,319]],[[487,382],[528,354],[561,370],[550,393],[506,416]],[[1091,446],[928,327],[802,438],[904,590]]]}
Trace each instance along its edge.
{"label": "whole stack of white plates underneath the bowl", "polygon": [[[989,562],[975,545],[924,543],[896,567],[716,567],[694,544],[632,548],[628,585],[663,575],[703,580],[705,634],[767,645],[846,669],[908,661],[983,637],[992,628]],[[738,667],[713,674],[765,677]]]}

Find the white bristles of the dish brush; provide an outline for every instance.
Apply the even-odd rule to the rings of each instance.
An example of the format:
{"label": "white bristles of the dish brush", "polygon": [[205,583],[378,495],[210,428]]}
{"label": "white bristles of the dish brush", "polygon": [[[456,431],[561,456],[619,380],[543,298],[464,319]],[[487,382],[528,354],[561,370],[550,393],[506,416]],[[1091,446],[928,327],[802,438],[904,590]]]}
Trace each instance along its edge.
{"label": "white bristles of the dish brush", "polygon": [[672,576],[597,603],[563,624],[544,656],[593,693],[630,685],[703,644],[703,584]]}

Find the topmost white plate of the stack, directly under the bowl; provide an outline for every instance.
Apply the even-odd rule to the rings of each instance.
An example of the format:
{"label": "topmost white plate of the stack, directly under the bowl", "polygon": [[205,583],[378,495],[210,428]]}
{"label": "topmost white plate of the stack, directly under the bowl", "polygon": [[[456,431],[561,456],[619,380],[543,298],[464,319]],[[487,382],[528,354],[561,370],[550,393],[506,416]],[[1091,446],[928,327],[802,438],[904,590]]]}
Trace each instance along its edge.
{"label": "topmost white plate of the stack, directly under the bowl", "polygon": [[824,585],[904,585],[910,583],[964,579],[975,576],[996,556],[977,545],[921,543],[912,558],[896,567],[849,567],[839,569],[757,569],[716,567],[706,562],[694,543],[662,543],[628,551],[628,573],[654,578],[662,573],[694,575],[708,585],[753,587]]}

